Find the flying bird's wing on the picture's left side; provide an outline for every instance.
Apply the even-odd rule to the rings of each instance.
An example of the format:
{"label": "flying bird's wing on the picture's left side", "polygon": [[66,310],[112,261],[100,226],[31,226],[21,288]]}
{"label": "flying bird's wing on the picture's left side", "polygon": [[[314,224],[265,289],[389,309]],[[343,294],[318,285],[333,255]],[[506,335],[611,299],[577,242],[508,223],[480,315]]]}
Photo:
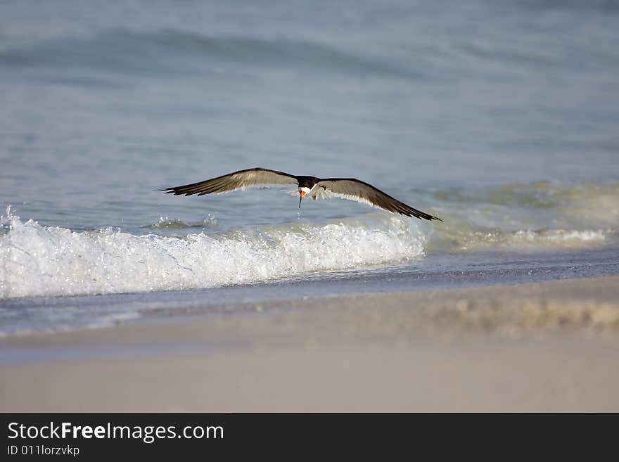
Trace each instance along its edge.
{"label": "flying bird's wing on the picture's left side", "polygon": [[269,169],[246,169],[238,172],[222,175],[199,183],[185,184],[184,186],[174,186],[172,188],[160,189],[166,193],[174,195],[204,195],[211,193],[227,193],[235,189],[244,189],[250,186],[272,186],[277,184],[298,184],[296,177],[284,172],[277,172]]}

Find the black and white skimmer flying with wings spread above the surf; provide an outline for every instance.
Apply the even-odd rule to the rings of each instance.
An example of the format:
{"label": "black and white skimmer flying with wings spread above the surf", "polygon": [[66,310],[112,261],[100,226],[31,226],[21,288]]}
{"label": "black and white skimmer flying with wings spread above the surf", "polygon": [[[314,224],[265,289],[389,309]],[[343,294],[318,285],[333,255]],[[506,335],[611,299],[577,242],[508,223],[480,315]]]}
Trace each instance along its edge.
{"label": "black and white skimmer flying with wings spread above the surf", "polygon": [[239,170],[238,172],[222,175],[199,183],[186,184],[184,186],[174,186],[164,188],[160,191],[173,193],[174,195],[205,195],[228,193],[236,189],[245,189],[251,186],[275,186],[293,185],[299,187],[299,208],[301,200],[306,195],[312,199],[328,199],[332,197],[356,200],[360,203],[374,205],[374,207],[387,210],[388,212],[399,213],[407,217],[417,217],[426,220],[442,219],[434,217],[421,210],[406,205],[383,191],[375,188],[371,184],[354,178],[316,178],[316,177],[297,177],[276,170],[255,168]]}

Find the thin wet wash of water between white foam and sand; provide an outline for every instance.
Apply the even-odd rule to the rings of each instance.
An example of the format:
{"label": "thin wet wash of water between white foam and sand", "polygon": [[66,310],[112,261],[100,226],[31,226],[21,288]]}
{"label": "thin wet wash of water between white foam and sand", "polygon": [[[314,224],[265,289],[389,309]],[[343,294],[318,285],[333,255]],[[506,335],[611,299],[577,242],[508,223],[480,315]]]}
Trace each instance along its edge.
{"label": "thin wet wash of water between white foam and sand", "polygon": [[435,255],[397,267],[334,271],[209,289],[8,298],[0,300],[5,308],[0,310],[0,336],[100,328],[153,316],[212,313],[246,302],[269,306],[307,297],[442,291],[618,274],[616,249],[553,255],[490,252],[469,255],[466,262],[461,255]]}

